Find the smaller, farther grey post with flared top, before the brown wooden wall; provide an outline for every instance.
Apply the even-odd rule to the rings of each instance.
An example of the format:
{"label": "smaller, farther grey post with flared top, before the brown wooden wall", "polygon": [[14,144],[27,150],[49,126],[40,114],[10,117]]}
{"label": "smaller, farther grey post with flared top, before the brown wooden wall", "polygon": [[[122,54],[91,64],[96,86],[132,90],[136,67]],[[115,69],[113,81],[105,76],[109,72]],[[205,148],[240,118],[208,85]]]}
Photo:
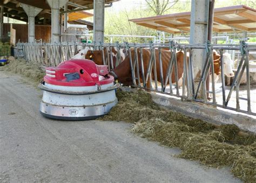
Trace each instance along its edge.
{"label": "smaller, farther grey post with flared top, before the brown wooden wall", "polygon": [[26,12],[26,15],[29,17],[29,43],[35,42],[35,17],[39,12],[43,9],[36,8],[35,6],[31,6],[28,4],[22,3],[22,8]]}

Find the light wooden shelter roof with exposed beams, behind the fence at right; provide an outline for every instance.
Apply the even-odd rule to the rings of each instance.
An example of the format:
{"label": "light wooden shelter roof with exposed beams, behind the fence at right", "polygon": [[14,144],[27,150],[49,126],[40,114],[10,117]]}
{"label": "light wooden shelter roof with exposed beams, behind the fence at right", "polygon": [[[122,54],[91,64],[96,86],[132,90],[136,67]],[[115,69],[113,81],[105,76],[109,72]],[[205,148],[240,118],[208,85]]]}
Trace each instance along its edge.
{"label": "light wooden shelter roof with exposed beams, behind the fence at right", "polygon": [[[190,32],[191,12],[130,19],[138,25],[172,34]],[[256,10],[245,5],[214,9],[214,32],[256,31]]]}

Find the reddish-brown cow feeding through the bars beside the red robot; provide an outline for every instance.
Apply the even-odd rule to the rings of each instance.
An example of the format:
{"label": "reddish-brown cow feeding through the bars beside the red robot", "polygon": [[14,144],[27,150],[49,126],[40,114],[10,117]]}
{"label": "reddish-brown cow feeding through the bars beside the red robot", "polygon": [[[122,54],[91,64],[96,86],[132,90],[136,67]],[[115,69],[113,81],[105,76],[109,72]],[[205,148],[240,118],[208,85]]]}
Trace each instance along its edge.
{"label": "reddish-brown cow feeding through the bars beside the red robot", "polygon": [[[146,77],[146,71],[150,64],[149,61],[150,61],[151,53],[150,53],[150,50],[147,48],[143,48],[142,52],[143,52],[144,74]],[[138,55],[140,55],[139,49],[137,50],[137,53],[138,53]],[[131,58],[132,58],[133,62],[134,62],[134,54],[135,54],[135,50],[132,50]],[[155,54],[156,54],[157,81],[160,82],[160,65],[159,65],[159,57],[158,57],[159,51],[155,50]],[[180,79],[182,79],[182,76],[183,76],[184,53],[179,51],[176,53],[176,56],[177,56],[177,66],[178,66],[178,79],[180,80]],[[161,60],[163,63],[163,79],[164,80],[166,78],[167,67],[169,65],[170,59],[171,59],[171,52],[169,50],[162,50],[161,51]],[[141,61],[140,57],[138,57],[138,63],[139,63],[139,73],[140,73],[140,80],[141,80],[140,82],[142,82],[142,74],[141,74],[142,73],[142,64],[141,64],[142,61]],[[136,71],[136,69],[135,69],[135,71]],[[110,72],[110,74],[112,76],[114,76],[114,79],[118,80],[123,85],[132,86],[133,82],[132,82],[132,73],[131,73],[131,67],[130,67],[130,57],[127,56],[120,65],[118,65],[116,68],[113,69],[113,71]],[[151,76],[152,76],[152,79],[155,78],[153,69],[152,69]],[[174,69],[173,69],[171,78],[172,78],[172,83],[176,82]],[[169,81],[168,81],[168,83],[169,83]],[[182,83],[182,82],[179,82],[179,83]],[[147,89],[149,89],[150,88],[149,80],[146,83],[146,85],[147,85],[146,86]]]}

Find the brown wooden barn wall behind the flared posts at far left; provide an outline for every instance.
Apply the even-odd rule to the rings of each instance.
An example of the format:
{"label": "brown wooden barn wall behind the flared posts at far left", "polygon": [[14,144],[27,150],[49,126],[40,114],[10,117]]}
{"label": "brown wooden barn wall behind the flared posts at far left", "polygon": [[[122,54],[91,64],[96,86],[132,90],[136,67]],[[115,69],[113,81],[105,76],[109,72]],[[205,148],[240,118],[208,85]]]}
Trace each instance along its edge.
{"label": "brown wooden barn wall behind the flared posts at far left", "polygon": [[[16,29],[16,41],[23,43],[28,42],[28,25],[27,24],[12,24],[12,28]],[[10,40],[8,37],[10,32],[10,24],[3,24],[3,39],[4,41]],[[36,25],[35,39],[42,39],[44,43],[50,43],[51,40],[51,26],[49,25]]]}

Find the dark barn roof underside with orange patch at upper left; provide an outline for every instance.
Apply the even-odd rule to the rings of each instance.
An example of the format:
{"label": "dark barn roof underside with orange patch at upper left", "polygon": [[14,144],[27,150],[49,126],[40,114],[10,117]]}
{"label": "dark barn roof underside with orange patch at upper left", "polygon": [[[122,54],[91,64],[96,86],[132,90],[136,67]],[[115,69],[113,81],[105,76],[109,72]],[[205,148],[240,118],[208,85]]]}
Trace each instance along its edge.
{"label": "dark barn roof underside with orange patch at upper left", "polygon": [[[117,2],[119,0],[105,0],[105,4]],[[93,9],[93,0],[70,0],[70,4],[68,4],[68,10],[72,11],[75,9],[86,9],[90,10]],[[48,24],[51,25],[51,8],[46,3],[46,0],[0,0],[0,6],[3,5],[4,7],[4,16],[9,16],[10,18],[14,18],[17,20],[21,20],[24,22],[28,22],[28,16],[26,15],[25,11],[21,7],[21,3],[28,4],[35,6],[37,8],[42,8],[43,10],[35,17],[35,23],[37,25]],[[80,5],[78,8],[75,5]],[[60,11],[64,11],[64,9],[60,9]],[[84,20],[80,20],[81,18],[86,18],[89,16],[93,16],[91,13],[87,13],[84,11],[76,11],[70,12],[69,23],[71,24],[86,24],[92,26],[93,24]]]}

